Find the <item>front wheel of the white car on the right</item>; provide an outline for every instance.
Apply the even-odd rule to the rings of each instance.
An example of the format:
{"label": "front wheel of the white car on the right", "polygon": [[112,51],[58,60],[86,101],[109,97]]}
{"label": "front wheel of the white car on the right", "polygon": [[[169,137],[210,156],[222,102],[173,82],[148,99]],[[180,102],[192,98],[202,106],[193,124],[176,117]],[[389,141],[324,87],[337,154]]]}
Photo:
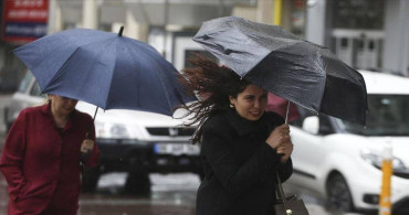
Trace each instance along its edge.
{"label": "front wheel of the white car on the right", "polygon": [[348,184],[343,175],[336,173],[329,176],[327,185],[327,208],[334,212],[352,212],[353,198]]}

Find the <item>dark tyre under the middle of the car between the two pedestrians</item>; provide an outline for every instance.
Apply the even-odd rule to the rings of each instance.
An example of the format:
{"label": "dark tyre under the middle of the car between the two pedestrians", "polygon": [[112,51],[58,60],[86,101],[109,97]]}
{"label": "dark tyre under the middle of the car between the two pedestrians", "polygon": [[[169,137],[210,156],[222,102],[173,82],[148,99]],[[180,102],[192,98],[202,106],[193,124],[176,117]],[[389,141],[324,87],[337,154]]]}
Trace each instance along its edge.
{"label": "dark tyre under the middle of the car between the two pedestrians", "polygon": [[150,180],[147,172],[129,172],[126,178],[125,193],[129,194],[150,194]]}

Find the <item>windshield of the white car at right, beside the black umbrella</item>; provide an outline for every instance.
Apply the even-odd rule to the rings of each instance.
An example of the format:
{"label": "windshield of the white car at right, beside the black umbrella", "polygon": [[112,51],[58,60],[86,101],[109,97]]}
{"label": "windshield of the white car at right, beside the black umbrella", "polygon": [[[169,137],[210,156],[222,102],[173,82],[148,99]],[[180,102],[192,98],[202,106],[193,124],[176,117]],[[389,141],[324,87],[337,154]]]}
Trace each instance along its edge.
{"label": "windshield of the white car at right, beside the black umbrella", "polygon": [[339,120],[345,130],[364,136],[409,136],[409,95],[368,95],[366,127]]}

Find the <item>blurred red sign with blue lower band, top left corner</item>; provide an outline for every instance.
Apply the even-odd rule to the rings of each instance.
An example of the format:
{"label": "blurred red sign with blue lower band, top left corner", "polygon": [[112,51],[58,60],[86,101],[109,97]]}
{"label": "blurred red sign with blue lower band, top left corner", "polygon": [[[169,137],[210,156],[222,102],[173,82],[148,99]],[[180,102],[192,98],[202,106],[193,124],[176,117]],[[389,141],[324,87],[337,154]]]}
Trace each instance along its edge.
{"label": "blurred red sign with blue lower band, top left corner", "polygon": [[49,0],[4,0],[1,40],[28,43],[46,35]]}

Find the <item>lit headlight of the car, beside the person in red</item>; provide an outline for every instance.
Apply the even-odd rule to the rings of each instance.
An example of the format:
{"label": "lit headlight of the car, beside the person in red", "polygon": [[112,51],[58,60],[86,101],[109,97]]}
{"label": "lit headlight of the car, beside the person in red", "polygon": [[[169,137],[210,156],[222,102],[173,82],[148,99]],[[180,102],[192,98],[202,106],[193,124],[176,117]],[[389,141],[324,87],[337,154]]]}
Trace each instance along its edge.
{"label": "lit headlight of the car, beside the person in red", "polygon": [[97,138],[127,139],[130,137],[126,126],[120,123],[96,122],[95,131]]}

